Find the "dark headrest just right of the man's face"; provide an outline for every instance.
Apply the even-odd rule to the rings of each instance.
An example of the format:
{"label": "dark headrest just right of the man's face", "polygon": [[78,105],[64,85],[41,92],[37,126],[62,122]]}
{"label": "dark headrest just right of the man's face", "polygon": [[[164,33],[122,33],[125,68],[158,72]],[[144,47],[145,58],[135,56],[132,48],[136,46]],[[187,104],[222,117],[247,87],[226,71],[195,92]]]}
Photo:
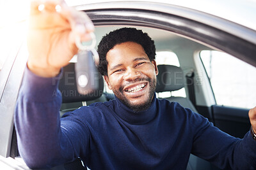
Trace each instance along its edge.
{"label": "dark headrest just right of the man's face", "polygon": [[156,92],[167,92],[182,89],[185,84],[182,69],[171,65],[158,65]]}

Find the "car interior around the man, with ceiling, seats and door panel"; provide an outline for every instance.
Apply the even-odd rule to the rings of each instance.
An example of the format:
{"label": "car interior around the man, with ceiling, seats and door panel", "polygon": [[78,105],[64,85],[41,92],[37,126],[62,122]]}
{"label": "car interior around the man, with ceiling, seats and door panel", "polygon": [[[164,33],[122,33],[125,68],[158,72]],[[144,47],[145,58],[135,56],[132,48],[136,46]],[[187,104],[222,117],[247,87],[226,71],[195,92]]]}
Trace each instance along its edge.
{"label": "car interior around the man, with ceiling, seats and door panel", "polygon": [[[156,63],[159,69],[156,96],[159,99],[178,102],[182,106],[208,118],[212,124],[222,131],[237,138],[243,138],[244,134],[250,129],[249,109],[223,106],[216,103],[209,76],[200,58],[200,52],[216,50],[216,48],[164,29],[125,24],[96,26],[95,36],[97,43],[99,43],[102,36],[121,27],[141,29],[143,32],[147,32],[155,41]],[[63,67],[63,74],[59,84],[62,94],[60,117],[65,112],[76,110],[81,106],[115,99],[113,92],[108,89],[100,73],[95,74],[95,78],[99,80],[99,89],[86,96],[79,94],[76,87],[75,63],[76,55],[70,60],[68,66]],[[13,135],[10,155],[14,158],[19,156],[15,129],[13,130]],[[67,162],[61,167],[58,166],[52,169],[68,170],[84,169],[84,167],[86,167],[86,164],[77,158],[74,162]],[[187,169],[218,170],[219,168],[207,160],[191,154]]]}

